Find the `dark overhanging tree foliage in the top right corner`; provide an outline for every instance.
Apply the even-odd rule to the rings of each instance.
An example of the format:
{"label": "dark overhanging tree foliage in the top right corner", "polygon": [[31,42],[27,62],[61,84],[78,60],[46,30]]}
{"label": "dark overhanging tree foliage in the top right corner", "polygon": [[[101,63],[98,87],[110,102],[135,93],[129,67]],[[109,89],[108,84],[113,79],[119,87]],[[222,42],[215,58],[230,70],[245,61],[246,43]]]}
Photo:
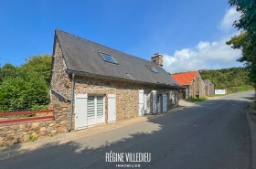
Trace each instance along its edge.
{"label": "dark overhanging tree foliage in the top right corner", "polygon": [[255,0],[229,0],[229,5],[236,6],[240,12],[240,20],[234,22],[233,26],[242,29],[240,36],[231,37],[226,42],[231,48],[240,49],[242,57],[237,61],[245,62],[250,72],[250,79],[256,84],[256,1]]}

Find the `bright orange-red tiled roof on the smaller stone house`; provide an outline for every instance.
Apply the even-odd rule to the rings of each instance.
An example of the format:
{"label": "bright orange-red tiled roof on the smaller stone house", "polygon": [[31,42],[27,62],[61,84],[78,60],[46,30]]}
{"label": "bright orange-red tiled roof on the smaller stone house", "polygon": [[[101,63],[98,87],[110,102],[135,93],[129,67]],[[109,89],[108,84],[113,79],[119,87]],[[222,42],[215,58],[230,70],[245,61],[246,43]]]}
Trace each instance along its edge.
{"label": "bright orange-red tiled roof on the smaller stone house", "polygon": [[196,75],[197,75],[197,71],[193,71],[189,73],[172,75],[172,77],[176,79],[176,82],[178,82],[178,84],[183,86],[183,85],[190,85],[190,83],[192,82],[192,80],[195,78]]}

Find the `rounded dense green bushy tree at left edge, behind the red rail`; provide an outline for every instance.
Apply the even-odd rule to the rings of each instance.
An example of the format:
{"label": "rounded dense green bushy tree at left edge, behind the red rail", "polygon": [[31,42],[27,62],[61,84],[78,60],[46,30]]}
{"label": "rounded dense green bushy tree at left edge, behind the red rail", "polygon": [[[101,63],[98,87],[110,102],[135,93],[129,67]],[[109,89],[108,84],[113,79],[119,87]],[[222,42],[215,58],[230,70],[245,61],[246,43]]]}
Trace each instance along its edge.
{"label": "rounded dense green bushy tree at left edge, behind the red rail", "polygon": [[33,106],[48,103],[48,85],[37,72],[16,69],[16,77],[8,77],[0,86],[0,112],[30,111]]}

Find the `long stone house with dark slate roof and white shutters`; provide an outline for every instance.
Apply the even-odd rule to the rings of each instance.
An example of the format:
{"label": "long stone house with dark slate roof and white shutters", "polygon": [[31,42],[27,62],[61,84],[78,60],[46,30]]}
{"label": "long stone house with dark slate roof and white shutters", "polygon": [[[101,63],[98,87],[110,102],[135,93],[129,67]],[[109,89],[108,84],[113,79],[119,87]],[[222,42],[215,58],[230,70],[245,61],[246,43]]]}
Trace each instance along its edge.
{"label": "long stone house with dark slate roof and white shutters", "polygon": [[50,107],[68,104],[55,117],[69,120],[69,130],[178,106],[181,87],[158,53],[149,61],[56,29],[52,56]]}

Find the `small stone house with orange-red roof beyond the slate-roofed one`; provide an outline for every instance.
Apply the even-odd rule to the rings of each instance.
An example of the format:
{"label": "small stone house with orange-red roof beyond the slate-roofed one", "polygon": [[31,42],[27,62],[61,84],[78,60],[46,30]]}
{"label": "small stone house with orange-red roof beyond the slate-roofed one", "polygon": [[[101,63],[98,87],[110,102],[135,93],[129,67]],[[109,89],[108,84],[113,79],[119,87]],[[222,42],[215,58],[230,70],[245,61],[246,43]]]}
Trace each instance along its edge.
{"label": "small stone house with orange-red roof beyond the slate-roofed one", "polygon": [[206,97],[205,83],[198,71],[171,75],[183,87],[178,90],[179,99]]}

